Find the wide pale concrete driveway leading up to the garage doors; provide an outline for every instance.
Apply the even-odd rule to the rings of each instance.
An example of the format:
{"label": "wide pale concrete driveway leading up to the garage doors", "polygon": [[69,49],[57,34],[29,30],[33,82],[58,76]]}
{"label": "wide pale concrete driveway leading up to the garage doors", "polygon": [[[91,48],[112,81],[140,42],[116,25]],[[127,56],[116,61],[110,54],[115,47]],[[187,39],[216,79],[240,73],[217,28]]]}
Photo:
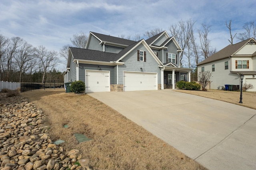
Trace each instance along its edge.
{"label": "wide pale concrete driveway leading up to the garage doors", "polygon": [[171,89],[89,95],[210,170],[256,169],[255,109]]}

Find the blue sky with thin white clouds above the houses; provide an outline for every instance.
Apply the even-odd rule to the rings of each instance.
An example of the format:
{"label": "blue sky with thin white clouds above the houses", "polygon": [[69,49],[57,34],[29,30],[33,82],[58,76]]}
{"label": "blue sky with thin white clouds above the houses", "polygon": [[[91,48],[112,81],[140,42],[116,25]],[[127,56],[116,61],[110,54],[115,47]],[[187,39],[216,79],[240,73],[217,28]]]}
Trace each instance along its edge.
{"label": "blue sky with thin white clouds above the houses", "polygon": [[79,32],[144,38],[145,31],[170,34],[170,25],[192,19],[195,29],[212,25],[209,38],[220,50],[229,45],[226,21],[232,20],[233,34],[240,33],[244,23],[255,21],[255,7],[254,0],[0,0],[0,34],[59,51]]}

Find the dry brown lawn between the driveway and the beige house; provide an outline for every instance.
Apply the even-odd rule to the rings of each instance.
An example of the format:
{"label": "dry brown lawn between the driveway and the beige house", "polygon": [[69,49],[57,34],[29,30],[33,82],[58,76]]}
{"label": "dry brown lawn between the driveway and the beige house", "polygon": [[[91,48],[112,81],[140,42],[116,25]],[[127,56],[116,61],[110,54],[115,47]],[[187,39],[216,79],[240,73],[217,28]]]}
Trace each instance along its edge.
{"label": "dry brown lawn between the driveway and the beige house", "polygon": [[242,92],[242,104],[240,104],[240,92],[225,91],[225,90],[208,90],[207,92],[197,90],[175,90],[177,92],[183,92],[188,94],[194,94],[197,96],[203,96],[206,98],[221,100],[224,102],[237,104],[240,106],[256,109],[256,92]]}

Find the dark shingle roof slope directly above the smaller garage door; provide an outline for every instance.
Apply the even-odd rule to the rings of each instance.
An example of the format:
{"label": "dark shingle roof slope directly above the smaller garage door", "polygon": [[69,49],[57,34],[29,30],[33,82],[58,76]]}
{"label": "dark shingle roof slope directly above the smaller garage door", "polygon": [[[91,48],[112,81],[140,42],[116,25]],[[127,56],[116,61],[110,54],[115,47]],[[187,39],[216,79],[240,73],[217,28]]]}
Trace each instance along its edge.
{"label": "dark shingle roof slope directly above the smaller garage door", "polygon": [[74,59],[90,60],[90,61],[115,61],[116,53],[107,53],[103,51],[79,49],[75,47],[69,47]]}

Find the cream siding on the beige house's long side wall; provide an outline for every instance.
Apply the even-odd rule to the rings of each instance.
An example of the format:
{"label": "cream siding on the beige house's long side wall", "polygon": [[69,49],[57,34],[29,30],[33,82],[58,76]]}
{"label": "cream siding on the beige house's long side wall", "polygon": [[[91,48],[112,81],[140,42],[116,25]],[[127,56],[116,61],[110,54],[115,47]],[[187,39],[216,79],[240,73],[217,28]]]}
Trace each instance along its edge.
{"label": "cream siding on the beige house's long side wall", "polygon": [[[225,70],[225,62],[228,61],[228,69]],[[212,72],[212,64],[215,65],[215,71]],[[201,72],[202,67],[204,67],[204,71],[210,71],[212,76],[210,78],[211,89],[218,89],[218,86],[225,86],[225,84],[230,85],[239,85],[240,77],[238,74],[234,74],[230,72],[230,58],[222,59],[219,61],[214,61],[207,64],[202,64],[198,66],[198,74]]]}

